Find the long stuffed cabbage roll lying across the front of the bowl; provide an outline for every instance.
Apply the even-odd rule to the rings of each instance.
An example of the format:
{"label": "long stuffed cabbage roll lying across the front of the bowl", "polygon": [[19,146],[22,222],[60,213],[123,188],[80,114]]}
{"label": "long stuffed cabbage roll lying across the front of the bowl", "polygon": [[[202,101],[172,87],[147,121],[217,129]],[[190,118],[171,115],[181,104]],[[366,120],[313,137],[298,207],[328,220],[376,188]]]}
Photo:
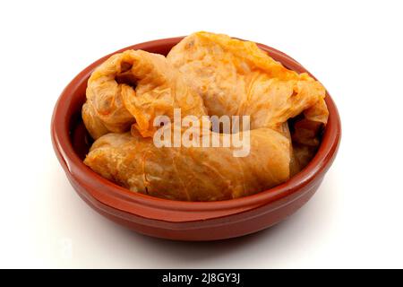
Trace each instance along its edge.
{"label": "long stuffed cabbage roll lying across the front of the bowl", "polygon": [[281,133],[252,130],[246,157],[234,157],[236,147],[222,147],[218,136],[221,147],[158,148],[135,130],[111,133],[92,144],[84,162],[133,192],[184,201],[248,196],[289,178],[290,142]]}

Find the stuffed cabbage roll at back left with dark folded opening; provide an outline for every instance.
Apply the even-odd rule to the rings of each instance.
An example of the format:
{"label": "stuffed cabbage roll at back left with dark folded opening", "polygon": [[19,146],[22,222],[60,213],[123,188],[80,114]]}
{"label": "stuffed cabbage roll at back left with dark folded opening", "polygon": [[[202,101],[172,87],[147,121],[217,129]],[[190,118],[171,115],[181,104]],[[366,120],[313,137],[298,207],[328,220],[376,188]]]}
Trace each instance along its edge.
{"label": "stuffed cabbage roll at back left with dark folded opening", "polygon": [[151,136],[155,117],[206,114],[201,97],[161,55],[127,50],[109,57],[91,74],[82,109],[84,124],[97,139],[107,132],[124,133],[135,123],[141,135]]}

